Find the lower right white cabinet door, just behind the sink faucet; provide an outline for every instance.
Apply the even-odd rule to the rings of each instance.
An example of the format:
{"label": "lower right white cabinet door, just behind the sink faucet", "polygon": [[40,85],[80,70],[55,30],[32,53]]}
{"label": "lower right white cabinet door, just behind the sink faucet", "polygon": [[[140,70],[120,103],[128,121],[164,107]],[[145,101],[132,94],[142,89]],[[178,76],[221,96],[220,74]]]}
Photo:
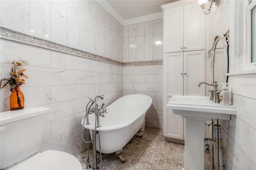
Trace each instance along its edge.
{"label": "lower right white cabinet door, just behind the sink faucet", "polygon": [[205,51],[184,52],[184,95],[205,96]]}

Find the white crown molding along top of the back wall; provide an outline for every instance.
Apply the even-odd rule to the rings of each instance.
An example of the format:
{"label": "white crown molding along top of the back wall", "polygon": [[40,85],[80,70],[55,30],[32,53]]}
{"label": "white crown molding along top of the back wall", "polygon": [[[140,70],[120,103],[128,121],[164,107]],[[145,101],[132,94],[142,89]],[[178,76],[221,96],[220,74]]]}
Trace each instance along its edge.
{"label": "white crown molding along top of the back wall", "polygon": [[158,12],[158,13],[154,13],[154,14],[149,14],[149,15],[145,15],[145,16],[140,16],[140,17],[124,20],[123,26],[138,24],[140,22],[147,22],[147,21],[151,21],[151,20],[158,20],[160,18],[163,18],[163,12]]}

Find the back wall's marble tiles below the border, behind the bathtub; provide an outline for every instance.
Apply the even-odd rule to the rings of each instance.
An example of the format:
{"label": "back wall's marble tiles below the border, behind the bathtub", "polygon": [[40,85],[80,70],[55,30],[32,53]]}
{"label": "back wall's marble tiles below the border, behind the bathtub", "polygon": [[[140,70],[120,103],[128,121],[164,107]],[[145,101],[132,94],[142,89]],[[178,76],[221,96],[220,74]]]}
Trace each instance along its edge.
{"label": "back wall's marble tiles below the border, behind the bathtub", "polygon": [[162,65],[124,67],[124,95],[145,94],[152,98],[146,113],[146,126],[163,128],[163,67]]}

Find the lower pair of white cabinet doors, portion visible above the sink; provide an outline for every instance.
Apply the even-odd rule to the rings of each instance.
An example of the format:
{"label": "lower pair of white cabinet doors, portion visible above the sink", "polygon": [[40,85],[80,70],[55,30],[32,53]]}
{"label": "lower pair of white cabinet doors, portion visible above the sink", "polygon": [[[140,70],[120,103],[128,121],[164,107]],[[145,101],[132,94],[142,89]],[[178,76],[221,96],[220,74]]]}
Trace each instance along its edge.
{"label": "lower pair of white cabinet doors, portion visible above the sink", "polygon": [[[205,80],[205,51],[187,51],[164,54],[167,96],[205,94],[205,86],[197,87]],[[167,103],[166,103],[167,104]]]}

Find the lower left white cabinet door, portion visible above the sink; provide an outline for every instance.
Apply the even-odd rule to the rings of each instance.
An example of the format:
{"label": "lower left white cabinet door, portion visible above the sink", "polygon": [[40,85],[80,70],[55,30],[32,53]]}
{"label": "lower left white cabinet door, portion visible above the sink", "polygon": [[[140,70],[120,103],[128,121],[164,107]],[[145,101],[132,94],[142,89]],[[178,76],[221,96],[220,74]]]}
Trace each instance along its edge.
{"label": "lower left white cabinet door, portion visible above the sink", "polygon": [[165,55],[167,96],[183,95],[183,52]]}

